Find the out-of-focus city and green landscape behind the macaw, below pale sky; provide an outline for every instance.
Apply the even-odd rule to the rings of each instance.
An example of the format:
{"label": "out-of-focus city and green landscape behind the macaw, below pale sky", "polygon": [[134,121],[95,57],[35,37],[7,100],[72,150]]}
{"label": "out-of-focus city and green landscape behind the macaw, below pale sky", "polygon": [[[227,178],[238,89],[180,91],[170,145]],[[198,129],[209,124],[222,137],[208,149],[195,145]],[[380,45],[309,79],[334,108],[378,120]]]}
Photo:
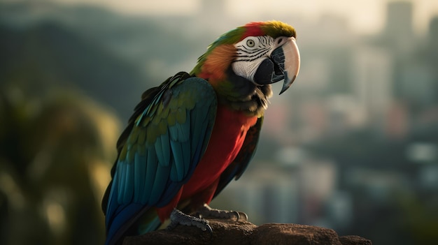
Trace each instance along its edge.
{"label": "out-of-focus city and green landscape behind the macaw, below pale sky", "polygon": [[[203,3],[195,16],[0,3],[0,244],[103,242],[100,198],[142,91],[245,23]],[[248,170],[212,206],[373,244],[435,244],[438,15],[418,35],[414,6],[388,2],[385,27],[368,36],[337,15],[276,17],[297,28],[302,70],[271,99]]]}

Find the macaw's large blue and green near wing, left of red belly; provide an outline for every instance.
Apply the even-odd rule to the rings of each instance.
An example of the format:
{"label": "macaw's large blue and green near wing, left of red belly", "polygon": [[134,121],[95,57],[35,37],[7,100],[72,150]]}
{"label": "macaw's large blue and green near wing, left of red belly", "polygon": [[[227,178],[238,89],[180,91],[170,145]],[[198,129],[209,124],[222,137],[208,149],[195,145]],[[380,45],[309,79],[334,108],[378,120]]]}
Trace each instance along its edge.
{"label": "macaw's large blue and green near wing, left of red belly", "polygon": [[142,99],[118,140],[102,201],[107,240],[118,239],[145,207],[174,198],[202,158],[216,117],[213,88],[188,73],[170,77]]}

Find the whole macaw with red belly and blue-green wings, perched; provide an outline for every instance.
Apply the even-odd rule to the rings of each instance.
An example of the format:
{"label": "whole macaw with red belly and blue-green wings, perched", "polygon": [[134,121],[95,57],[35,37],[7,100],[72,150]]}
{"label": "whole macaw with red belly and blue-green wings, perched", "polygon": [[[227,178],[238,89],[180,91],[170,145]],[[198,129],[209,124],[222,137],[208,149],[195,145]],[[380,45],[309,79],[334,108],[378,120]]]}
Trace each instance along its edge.
{"label": "whole macaw with red belly and blue-green wings, perched", "polygon": [[169,228],[211,231],[189,214],[211,210],[211,200],[246,169],[270,84],[283,80],[282,94],[298,75],[295,38],[283,22],[250,22],[211,43],[190,73],[143,93],[118,140],[102,200],[106,244],[157,230],[169,218]]}

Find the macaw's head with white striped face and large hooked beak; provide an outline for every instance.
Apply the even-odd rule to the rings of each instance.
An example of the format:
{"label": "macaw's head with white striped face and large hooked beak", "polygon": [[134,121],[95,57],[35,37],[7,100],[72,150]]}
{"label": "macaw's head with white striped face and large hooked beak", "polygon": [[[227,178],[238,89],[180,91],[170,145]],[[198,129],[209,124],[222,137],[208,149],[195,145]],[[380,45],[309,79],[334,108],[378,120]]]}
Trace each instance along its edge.
{"label": "macaw's head with white striped face and large hooked beak", "polygon": [[248,90],[251,86],[245,83],[250,83],[271,93],[269,84],[283,80],[282,94],[299,72],[295,38],[295,29],[283,22],[250,22],[214,41],[199,57],[192,75],[225,91]]}

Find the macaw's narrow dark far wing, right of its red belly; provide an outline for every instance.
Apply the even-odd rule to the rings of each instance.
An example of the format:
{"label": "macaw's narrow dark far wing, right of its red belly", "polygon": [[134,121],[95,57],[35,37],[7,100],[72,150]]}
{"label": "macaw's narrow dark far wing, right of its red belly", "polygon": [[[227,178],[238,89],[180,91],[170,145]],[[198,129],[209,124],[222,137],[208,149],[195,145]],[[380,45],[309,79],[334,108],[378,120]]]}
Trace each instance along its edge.
{"label": "macaw's narrow dark far wing, right of its red belly", "polygon": [[237,154],[234,161],[225,169],[224,172],[222,172],[222,175],[220,175],[218,188],[216,188],[213,198],[215,198],[216,195],[218,195],[220,191],[227,186],[229,181],[234,178],[236,180],[239,179],[243,172],[245,172],[246,167],[248,167],[249,162],[255,154],[255,149],[257,148],[257,143],[260,138],[260,129],[262,128],[262,124],[263,117],[260,117],[257,119],[257,123],[249,128],[239,154]]}

